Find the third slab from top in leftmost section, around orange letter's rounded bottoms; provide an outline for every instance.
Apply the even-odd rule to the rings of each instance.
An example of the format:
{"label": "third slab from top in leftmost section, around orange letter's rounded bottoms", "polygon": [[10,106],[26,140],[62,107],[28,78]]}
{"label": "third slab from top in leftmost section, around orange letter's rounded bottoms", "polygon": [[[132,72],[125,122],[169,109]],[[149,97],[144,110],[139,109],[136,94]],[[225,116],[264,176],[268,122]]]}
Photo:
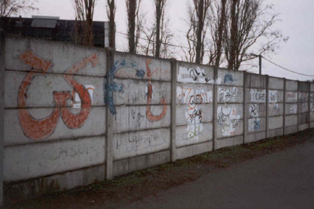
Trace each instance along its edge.
{"label": "third slab from top in leftmost section, around orange letter's rounded bottoms", "polygon": [[[52,108],[32,108],[28,110],[30,115],[40,120],[41,118],[47,117],[53,111]],[[78,113],[77,108],[71,108],[70,111]],[[75,112],[74,112],[75,111]],[[78,137],[98,136],[105,134],[106,127],[106,111],[105,107],[92,107],[89,111],[89,115],[84,121],[81,127],[72,129],[65,125],[62,117],[59,116],[55,129],[52,129],[52,133],[46,134],[44,138],[36,139],[32,136],[25,135],[31,130],[29,128],[22,129],[19,121],[18,110],[6,109],[4,112],[4,139],[5,146],[14,144],[27,144],[38,141],[50,141],[57,139],[69,139]],[[49,124],[48,124],[49,125]],[[45,130],[45,129],[44,129]],[[38,133],[45,133],[43,130],[37,131]]]}

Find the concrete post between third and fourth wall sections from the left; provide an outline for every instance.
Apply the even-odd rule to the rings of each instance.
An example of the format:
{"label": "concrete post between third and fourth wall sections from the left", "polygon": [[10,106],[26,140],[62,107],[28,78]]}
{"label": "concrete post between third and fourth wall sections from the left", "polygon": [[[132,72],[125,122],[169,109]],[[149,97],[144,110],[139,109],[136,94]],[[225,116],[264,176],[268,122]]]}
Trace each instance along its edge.
{"label": "concrete post between third and fourth wall sections from the left", "polygon": [[213,86],[213,150],[217,147],[217,77],[218,67],[214,67],[214,86]]}

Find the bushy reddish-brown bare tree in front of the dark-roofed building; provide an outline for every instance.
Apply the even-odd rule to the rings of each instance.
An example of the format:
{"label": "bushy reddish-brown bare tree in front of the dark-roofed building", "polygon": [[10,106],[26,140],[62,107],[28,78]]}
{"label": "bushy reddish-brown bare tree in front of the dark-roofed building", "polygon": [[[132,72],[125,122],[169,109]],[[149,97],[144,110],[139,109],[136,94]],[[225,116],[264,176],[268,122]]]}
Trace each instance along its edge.
{"label": "bushy reddish-brown bare tree in front of the dark-roofed building", "polygon": [[75,42],[93,46],[93,16],[97,0],[74,0]]}

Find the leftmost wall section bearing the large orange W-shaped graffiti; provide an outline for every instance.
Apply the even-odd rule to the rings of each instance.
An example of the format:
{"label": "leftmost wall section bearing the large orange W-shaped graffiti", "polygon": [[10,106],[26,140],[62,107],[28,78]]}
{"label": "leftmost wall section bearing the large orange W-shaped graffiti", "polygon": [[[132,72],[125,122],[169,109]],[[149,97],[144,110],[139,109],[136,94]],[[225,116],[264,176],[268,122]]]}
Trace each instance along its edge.
{"label": "leftmost wall section bearing the large orange W-shaped graffiti", "polygon": [[5,50],[5,200],[104,180],[104,50],[21,38]]}

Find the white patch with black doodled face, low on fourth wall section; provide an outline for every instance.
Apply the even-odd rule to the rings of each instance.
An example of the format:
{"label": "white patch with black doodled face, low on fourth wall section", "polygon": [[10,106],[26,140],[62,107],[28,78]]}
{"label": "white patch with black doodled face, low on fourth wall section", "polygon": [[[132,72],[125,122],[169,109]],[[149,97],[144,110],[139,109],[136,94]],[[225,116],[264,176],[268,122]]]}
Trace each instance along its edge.
{"label": "white patch with black doodled face, low on fourth wall section", "polygon": [[217,123],[223,136],[235,135],[240,125],[240,115],[236,113],[235,107],[221,105],[217,108]]}

